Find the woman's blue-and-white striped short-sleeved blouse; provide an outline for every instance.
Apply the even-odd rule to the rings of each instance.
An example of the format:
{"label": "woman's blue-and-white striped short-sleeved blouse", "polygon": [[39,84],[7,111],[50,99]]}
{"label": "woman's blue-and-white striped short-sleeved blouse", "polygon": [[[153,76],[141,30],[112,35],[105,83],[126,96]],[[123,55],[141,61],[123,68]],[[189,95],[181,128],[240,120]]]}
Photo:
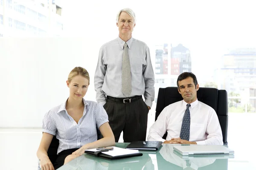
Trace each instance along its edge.
{"label": "woman's blue-and-white striped short-sleeved blouse", "polygon": [[97,140],[97,129],[108,122],[108,115],[97,102],[84,100],[84,113],[78,124],[67,113],[66,102],[52,108],[43,119],[43,132],[56,135],[59,140],[58,153],[80,148]]}

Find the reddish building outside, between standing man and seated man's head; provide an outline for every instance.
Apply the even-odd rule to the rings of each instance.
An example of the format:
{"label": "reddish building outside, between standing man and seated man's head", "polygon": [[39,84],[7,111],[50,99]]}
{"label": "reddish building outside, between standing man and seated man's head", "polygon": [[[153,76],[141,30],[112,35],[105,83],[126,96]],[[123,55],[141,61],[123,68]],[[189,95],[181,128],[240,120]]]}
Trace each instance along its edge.
{"label": "reddish building outside, between standing man and seated man's head", "polygon": [[188,48],[170,43],[155,46],[155,102],[159,88],[177,86],[177,77],[183,72],[191,72],[191,56]]}

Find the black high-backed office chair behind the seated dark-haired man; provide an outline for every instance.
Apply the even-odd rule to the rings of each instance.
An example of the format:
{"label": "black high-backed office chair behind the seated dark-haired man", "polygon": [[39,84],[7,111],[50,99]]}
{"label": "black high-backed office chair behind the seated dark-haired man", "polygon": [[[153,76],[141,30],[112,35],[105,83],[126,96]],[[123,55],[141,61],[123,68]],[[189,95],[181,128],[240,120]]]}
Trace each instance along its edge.
{"label": "black high-backed office chair behind the seated dark-haired man", "polygon": [[[199,88],[197,91],[197,98],[200,102],[211,106],[217,113],[222,130],[223,143],[224,145],[227,145],[227,91],[218,90],[217,88]],[[180,100],[183,100],[183,98],[179,94],[177,87],[159,88],[155,121],[166,106]],[[167,132],[163,135],[163,139],[166,139],[166,136]]]}

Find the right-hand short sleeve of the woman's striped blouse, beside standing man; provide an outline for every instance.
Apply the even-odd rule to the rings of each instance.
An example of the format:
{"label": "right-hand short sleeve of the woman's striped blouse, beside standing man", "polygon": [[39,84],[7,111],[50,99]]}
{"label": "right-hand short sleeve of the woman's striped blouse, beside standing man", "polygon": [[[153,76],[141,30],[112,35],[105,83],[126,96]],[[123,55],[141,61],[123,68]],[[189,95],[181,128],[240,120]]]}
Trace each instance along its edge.
{"label": "right-hand short sleeve of the woman's striped blouse, beside standing man", "polygon": [[103,123],[109,122],[108,121],[108,114],[103,108],[103,106],[99,103],[96,105],[95,109],[95,119],[96,119],[96,126],[99,128]]}

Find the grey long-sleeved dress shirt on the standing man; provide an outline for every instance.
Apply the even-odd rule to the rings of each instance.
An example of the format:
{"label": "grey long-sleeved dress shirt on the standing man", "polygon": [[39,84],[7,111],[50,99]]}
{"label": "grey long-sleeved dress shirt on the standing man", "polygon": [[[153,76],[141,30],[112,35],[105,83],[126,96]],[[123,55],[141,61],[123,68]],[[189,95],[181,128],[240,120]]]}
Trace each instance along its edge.
{"label": "grey long-sleeved dress shirt on the standing man", "polygon": [[[154,101],[154,71],[148,46],[131,37],[127,42],[131,63],[130,96],[143,95],[149,107]],[[96,101],[106,103],[106,95],[125,97],[122,94],[122,55],[125,41],[120,37],[105,43],[99,50],[99,60],[94,76]]]}

